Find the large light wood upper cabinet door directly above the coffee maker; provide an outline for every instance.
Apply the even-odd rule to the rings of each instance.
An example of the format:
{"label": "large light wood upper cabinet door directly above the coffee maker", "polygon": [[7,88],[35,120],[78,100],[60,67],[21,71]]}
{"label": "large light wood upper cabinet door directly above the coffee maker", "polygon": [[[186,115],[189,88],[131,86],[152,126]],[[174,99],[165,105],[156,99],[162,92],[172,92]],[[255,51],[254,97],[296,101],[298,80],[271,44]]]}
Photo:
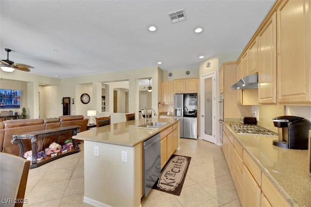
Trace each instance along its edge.
{"label": "large light wood upper cabinet door directly above the coffee maker", "polygon": [[277,19],[277,102],[311,102],[310,0],[283,0]]}

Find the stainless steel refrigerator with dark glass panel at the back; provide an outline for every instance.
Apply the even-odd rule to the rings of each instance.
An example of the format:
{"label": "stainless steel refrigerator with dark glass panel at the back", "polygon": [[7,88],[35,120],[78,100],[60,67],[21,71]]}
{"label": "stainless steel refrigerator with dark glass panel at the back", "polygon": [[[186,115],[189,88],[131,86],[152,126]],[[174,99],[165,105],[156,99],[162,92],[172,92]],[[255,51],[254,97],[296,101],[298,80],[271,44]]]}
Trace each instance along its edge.
{"label": "stainless steel refrigerator with dark glass panel at the back", "polygon": [[174,118],[180,119],[180,137],[197,139],[198,94],[174,95]]}

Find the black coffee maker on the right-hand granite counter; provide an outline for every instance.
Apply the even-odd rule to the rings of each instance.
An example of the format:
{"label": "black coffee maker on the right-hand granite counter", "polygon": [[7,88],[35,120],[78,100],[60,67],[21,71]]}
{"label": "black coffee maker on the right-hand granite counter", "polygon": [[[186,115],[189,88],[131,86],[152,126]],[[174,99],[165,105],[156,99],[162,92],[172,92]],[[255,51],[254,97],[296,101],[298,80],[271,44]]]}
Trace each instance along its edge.
{"label": "black coffee maker on the right-hand granite counter", "polygon": [[278,116],[272,119],[278,127],[278,140],[273,145],[290,149],[308,149],[311,122],[298,116]]}

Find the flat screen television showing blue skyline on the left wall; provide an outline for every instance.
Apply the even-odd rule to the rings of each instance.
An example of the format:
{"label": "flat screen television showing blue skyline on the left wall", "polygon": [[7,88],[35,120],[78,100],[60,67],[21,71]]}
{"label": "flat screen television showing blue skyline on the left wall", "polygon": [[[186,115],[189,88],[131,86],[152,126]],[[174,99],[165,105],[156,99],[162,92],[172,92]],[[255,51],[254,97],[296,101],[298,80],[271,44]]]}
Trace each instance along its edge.
{"label": "flat screen television showing blue skyline on the left wall", "polygon": [[20,90],[0,89],[0,109],[19,109]]}

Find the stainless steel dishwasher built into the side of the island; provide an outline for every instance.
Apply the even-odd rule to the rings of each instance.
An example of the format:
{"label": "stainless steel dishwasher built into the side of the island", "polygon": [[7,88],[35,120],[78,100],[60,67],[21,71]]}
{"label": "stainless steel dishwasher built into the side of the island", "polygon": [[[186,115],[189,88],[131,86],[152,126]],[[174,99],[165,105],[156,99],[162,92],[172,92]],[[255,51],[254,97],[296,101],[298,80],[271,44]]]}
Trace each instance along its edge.
{"label": "stainless steel dishwasher built into the side of the island", "polygon": [[143,142],[143,196],[146,197],[161,174],[160,134]]}

